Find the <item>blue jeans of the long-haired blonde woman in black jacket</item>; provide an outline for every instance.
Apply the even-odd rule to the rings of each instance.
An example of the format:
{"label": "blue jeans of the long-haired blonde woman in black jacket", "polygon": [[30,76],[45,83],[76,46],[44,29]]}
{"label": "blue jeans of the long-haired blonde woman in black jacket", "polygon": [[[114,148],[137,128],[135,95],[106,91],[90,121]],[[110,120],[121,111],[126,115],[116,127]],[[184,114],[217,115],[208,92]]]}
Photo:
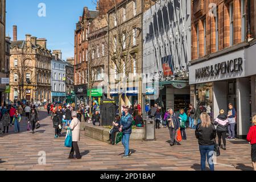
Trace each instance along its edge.
{"label": "blue jeans of the long-haired blonde woman in black jacket", "polygon": [[199,146],[201,154],[201,171],[205,171],[205,160],[207,159],[210,171],[214,171],[213,164],[213,154],[214,154],[214,145],[212,146]]}

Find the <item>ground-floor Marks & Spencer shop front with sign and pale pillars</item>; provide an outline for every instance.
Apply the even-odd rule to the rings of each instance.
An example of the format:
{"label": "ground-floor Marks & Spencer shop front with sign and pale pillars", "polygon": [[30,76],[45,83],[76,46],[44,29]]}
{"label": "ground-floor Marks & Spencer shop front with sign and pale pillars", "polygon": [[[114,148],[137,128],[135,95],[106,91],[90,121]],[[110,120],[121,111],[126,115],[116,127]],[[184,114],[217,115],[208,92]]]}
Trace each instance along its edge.
{"label": "ground-floor Marks & Spencer shop front with sign and pale pillars", "polygon": [[228,113],[229,103],[237,111],[237,137],[247,135],[251,117],[251,77],[245,49],[192,64],[189,67],[191,103],[205,106],[216,118],[221,109]]}

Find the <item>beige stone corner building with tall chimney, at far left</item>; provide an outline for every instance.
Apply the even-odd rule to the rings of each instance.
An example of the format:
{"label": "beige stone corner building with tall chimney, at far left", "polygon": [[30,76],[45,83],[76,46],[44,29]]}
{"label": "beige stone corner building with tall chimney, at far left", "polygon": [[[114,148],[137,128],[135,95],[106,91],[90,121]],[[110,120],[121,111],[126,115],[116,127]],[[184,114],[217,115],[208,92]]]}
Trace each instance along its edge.
{"label": "beige stone corner building with tall chimney, at far left", "polygon": [[51,51],[47,40],[26,35],[11,42],[10,100],[51,101]]}

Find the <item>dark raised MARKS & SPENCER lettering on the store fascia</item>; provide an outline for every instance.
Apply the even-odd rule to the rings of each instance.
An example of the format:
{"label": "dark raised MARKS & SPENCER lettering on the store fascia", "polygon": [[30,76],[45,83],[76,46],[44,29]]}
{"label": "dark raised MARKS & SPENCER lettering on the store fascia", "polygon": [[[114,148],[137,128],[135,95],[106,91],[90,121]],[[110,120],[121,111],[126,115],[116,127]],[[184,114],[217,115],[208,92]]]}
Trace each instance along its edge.
{"label": "dark raised MARKS & SPENCER lettering on the store fascia", "polygon": [[196,79],[243,71],[241,57],[196,69]]}

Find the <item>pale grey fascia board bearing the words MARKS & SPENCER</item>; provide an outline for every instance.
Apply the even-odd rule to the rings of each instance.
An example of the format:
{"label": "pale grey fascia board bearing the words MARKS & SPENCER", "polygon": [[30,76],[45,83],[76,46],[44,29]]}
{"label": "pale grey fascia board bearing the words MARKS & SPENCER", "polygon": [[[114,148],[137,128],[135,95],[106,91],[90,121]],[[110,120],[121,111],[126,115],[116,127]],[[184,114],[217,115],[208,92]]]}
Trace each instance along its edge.
{"label": "pale grey fascia board bearing the words MARKS & SPENCER", "polygon": [[245,51],[227,53],[189,67],[189,84],[245,77]]}

